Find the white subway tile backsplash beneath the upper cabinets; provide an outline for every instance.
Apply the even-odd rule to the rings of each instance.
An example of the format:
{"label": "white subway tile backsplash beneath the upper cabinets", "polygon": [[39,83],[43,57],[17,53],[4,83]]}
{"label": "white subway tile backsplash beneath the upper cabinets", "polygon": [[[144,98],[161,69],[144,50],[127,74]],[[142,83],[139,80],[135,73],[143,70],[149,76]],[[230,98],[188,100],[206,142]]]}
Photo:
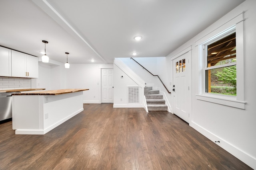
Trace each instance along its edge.
{"label": "white subway tile backsplash beneath the upper cabinets", "polygon": [[30,78],[0,77],[0,90],[25,88],[31,88]]}

